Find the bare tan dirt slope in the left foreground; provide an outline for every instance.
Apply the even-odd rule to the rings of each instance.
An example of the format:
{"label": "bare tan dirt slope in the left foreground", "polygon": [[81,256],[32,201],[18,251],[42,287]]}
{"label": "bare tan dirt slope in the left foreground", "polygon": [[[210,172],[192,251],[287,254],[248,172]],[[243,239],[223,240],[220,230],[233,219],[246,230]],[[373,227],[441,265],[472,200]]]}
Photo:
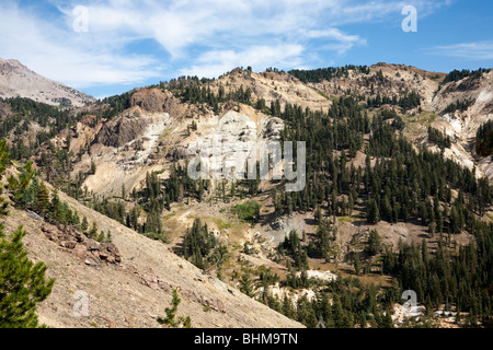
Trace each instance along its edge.
{"label": "bare tan dirt slope in the left foreground", "polygon": [[[157,316],[164,316],[172,289],[179,289],[182,303],[177,316],[190,315],[193,327],[302,327],[240,291],[203,275],[202,270],[117,222],[60,194],[87,217],[90,224],[111,231],[119,249],[121,264],[96,267],[84,264],[73,250],[49,241],[42,226],[57,230],[27,212],[10,208],[4,219],[7,232],[23,224],[28,232],[24,244],[34,260],[45,261],[47,275],[56,278],[49,298],[38,307],[43,323],[50,327],[160,327]],[[89,316],[76,317],[77,291],[89,296]],[[206,307],[206,305],[208,307]]]}

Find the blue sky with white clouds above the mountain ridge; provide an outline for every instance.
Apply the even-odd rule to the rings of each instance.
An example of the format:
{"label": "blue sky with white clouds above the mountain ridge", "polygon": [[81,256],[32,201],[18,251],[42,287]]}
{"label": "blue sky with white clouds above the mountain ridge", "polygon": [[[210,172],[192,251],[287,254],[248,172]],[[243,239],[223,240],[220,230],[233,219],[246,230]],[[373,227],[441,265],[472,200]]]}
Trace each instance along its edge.
{"label": "blue sky with white clouds above the mountain ridge", "polygon": [[1,0],[0,33],[0,57],[96,97],[239,66],[493,67],[490,0]]}

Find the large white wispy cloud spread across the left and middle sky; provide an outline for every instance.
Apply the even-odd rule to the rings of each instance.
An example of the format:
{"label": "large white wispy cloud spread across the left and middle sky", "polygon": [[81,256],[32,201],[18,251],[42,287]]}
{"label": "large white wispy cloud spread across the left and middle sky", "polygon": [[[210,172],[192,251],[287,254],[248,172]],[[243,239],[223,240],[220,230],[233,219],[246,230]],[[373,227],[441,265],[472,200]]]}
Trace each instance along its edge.
{"label": "large white wispy cloud spread across the left and middle sky", "polygon": [[[0,56],[85,88],[238,66],[306,67],[320,50],[337,57],[369,45],[347,24],[399,21],[404,4],[425,15],[449,0],[49,0],[58,9],[50,19],[10,1],[0,4]],[[79,4],[89,10],[88,33],[72,30]],[[142,40],[161,50],[135,50]]]}

